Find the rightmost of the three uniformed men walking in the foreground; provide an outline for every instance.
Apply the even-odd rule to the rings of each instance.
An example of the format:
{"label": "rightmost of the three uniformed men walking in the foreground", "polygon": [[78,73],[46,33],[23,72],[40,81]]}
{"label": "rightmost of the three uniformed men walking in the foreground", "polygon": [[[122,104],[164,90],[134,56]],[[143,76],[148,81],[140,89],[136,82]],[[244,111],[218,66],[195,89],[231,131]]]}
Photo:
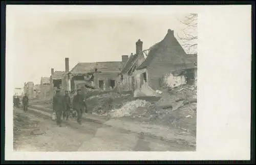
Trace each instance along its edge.
{"label": "rightmost of the three uniformed men walking in the foreground", "polygon": [[82,95],[82,90],[77,89],[77,95],[73,98],[73,109],[77,112],[77,123],[81,124],[82,113],[87,111],[86,100]]}

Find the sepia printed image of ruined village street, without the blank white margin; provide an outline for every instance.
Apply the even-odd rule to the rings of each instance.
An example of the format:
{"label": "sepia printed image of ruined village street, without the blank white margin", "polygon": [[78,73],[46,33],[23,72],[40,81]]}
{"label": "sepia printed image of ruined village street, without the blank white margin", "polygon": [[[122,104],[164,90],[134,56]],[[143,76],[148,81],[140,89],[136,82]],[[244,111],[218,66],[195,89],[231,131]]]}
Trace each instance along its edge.
{"label": "sepia printed image of ruined village street, without the blank white margin", "polygon": [[198,13],[50,9],[7,12],[14,151],[196,151]]}

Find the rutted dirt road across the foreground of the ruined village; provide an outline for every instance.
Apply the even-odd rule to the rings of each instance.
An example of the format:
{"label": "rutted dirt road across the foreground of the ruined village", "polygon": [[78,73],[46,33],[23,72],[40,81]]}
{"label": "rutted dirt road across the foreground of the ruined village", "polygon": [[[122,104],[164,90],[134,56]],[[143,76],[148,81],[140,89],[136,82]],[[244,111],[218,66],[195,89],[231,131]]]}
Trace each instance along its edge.
{"label": "rutted dirt road across the foreground of the ruined village", "polygon": [[71,120],[57,127],[56,122],[39,113],[15,111],[15,151],[191,151],[182,144],[169,144],[150,137],[142,139],[136,133],[99,123],[78,125]]}

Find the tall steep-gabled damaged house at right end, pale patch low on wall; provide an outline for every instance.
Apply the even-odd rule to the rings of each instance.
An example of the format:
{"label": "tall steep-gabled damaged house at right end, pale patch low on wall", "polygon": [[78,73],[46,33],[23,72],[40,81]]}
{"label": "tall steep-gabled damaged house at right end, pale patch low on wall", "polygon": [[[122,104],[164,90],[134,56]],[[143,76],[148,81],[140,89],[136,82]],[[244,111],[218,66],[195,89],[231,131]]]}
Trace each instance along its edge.
{"label": "tall steep-gabled damaged house at right end, pale patch low on wall", "polygon": [[153,45],[148,55],[133,73],[135,88],[144,84],[157,90],[160,87],[176,87],[194,83],[197,77],[197,55],[188,55],[168,29],[164,39]]}

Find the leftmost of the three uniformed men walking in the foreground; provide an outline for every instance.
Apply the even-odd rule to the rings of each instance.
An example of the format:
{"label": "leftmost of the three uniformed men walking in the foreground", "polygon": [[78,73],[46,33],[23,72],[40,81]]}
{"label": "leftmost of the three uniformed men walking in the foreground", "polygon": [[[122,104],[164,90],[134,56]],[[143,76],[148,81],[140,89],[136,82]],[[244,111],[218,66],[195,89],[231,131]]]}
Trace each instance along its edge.
{"label": "leftmost of the three uniformed men walking in the foreground", "polygon": [[60,90],[57,88],[56,89],[56,94],[53,97],[53,111],[55,111],[56,115],[57,115],[57,125],[59,127],[61,127],[61,115],[63,112],[63,101],[62,101],[62,97],[60,96]]}

